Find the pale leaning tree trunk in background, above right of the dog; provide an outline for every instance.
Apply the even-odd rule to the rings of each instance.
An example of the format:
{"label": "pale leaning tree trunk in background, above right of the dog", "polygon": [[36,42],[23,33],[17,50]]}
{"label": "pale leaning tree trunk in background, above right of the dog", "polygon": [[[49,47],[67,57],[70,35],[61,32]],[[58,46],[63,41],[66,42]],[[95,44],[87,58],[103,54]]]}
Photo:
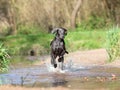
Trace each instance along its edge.
{"label": "pale leaning tree trunk in background, above right of the dog", "polygon": [[72,16],[71,16],[71,28],[72,29],[75,29],[75,27],[76,27],[76,16],[77,16],[77,12],[78,12],[81,4],[82,4],[82,0],[78,0],[76,2],[74,10],[72,11]]}

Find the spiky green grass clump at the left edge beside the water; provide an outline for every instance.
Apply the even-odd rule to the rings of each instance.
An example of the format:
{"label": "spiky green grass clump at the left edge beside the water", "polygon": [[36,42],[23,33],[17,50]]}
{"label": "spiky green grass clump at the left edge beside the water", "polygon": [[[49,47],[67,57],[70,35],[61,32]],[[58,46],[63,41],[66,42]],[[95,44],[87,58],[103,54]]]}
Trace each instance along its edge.
{"label": "spiky green grass clump at the left edge beside the water", "polygon": [[4,72],[8,70],[9,60],[8,60],[8,51],[0,44],[0,72]]}

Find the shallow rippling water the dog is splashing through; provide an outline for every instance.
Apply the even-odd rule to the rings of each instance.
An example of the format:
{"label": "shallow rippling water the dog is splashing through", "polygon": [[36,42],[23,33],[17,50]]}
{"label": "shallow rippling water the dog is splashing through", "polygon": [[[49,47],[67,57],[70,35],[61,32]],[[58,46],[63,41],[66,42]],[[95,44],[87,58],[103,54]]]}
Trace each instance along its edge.
{"label": "shallow rippling water the dog is splashing through", "polygon": [[[12,66],[14,67],[14,66]],[[14,67],[8,73],[0,74],[0,84],[21,85],[27,87],[63,86],[71,89],[120,88],[120,68],[109,66],[83,67],[69,61],[64,72],[51,70],[51,65],[23,65]]]}

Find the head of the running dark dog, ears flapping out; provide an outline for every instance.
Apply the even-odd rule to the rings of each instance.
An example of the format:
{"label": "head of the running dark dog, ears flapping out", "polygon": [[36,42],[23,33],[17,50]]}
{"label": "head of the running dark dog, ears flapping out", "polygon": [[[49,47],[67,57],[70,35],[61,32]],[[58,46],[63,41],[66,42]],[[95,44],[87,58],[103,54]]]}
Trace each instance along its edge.
{"label": "head of the running dark dog, ears flapping out", "polygon": [[60,39],[64,39],[67,35],[67,30],[65,28],[54,28],[52,33],[59,37]]}

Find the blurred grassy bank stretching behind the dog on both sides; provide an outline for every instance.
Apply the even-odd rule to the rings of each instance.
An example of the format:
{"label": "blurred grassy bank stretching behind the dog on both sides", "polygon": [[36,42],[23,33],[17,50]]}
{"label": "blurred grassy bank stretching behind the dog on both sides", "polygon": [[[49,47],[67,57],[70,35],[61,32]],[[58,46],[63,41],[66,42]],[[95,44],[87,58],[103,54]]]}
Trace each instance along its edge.
{"label": "blurred grassy bank stretching behind the dog on both sides", "polygon": [[[69,31],[65,38],[66,48],[69,52],[104,47],[106,31]],[[11,55],[28,55],[34,50],[37,55],[50,52],[50,42],[54,35],[46,32],[37,34],[19,34],[6,36],[1,40],[8,47]]]}

